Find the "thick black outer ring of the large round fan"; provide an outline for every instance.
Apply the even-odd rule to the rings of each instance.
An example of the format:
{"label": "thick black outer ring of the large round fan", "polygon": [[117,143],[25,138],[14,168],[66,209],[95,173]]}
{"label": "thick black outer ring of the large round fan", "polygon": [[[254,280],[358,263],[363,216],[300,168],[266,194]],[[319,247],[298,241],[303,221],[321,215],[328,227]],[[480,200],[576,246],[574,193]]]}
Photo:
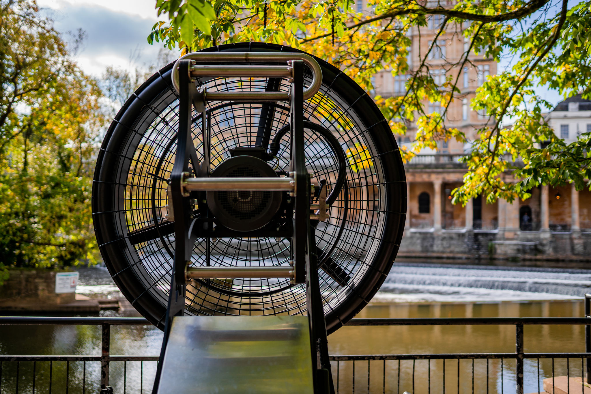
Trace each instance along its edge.
{"label": "thick black outer ring of the large round fan", "polygon": [[[268,43],[233,43],[218,45],[202,50],[204,52],[233,51],[233,52],[298,52],[304,51],[278,44]],[[327,333],[331,334],[355,317],[378,291],[394,263],[400,248],[400,241],[404,231],[407,210],[407,187],[404,165],[398,150],[397,142],[384,119],[378,106],[366,92],[350,77],[332,64],[313,56],[323,71],[323,86],[329,86],[346,102],[355,103],[356,113],[363,114],[361,119],[365,126],[365,133],[370,134],[372,142],[380,151],[384,180],[381,186],[385,188],[384,222],[388,227],[381,234],[382,242],[375,252],[375,259],[371,270],[374,275],[363,276],[355,290],[350,292],[339,304],[337,310],[326,313]],[[132,248],[129,241],[121,235],[116,213],[116,196],[121,193],[119,188],[125,184],[121,174],[117,174],[121,157],[121,146],[124,145],[127,133],[132,130],[135,120],[142,113],[151,99],[166,91],[173,91],[171,70],[173,63],[157,71],[144,82],[126,101],[109,126],[103,139],[97,158],[92,187],[93,227],[97,243],[105,260],[106,266],[119,287],[122,294],[134,308],[151,324],[164,330],[166,304],[162,304],[150,292],[137,273],[128,269],[132,256],[122,252]],[[322,89],[322,88],[321,88]],[[125,174],[126,175],[126,174]],[[168,297],[157,291],[161,299]]]}

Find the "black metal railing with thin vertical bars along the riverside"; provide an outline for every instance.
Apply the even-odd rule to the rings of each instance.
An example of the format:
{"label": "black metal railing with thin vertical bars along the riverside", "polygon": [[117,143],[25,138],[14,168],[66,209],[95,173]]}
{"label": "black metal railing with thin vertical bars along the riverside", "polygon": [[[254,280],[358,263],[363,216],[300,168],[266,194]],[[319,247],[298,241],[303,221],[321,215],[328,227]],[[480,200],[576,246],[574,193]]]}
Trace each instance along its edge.
{"label": "black metal railing with thin vertical bars along the riverside", "polygon": [[[411,393],[427,392],[492,392],[490,385],[498,382],[500,372],[501,393],[511,392],[505,388],[506,376],[504,373],[511,374],[511,379],[515,379],[515,393],[524,394],[524,366],[530,362],[528,373],[532,370],[537,374],[538,392],[542,392],[540,385],[540,363],[547,363],[548,369],[551,365],[551,379],[555,376],[555,361],[558,359],[566,360],[567,382],[570,382],[570,371],[574,369],[571,360],[579,360],[580,376],[582,379],[580,385],[573,386],[573,392],[586,392],[584,387],[586,383],[591,383],[591,295],[587,294],[585,298],[585,316],[576,317],[525,317],[525,318],[355,318],[349,321],[348,326],[427,326],[427,325],[514,325],[515,326],[515,352],[512,353],[435,353],[435,354],[353,354],[353,355],[333,355],[329,359],[333,364],[333,377],[337,393],[386,393],[400,392],[401,375],[402,380],[407,380],[406,386],[411,388]],[[18,356],[1,355],[0,356],[0,392],[19,393],[19,374],[21,363],[33,363],[31,387],[26,392],[35,393],[35,373],[38,362],[49,362],[49,380],[48,387],[37,387],[36,392],[51,393],[52,386],[54,392],[68,393],[70,389],[70,363],[83,362],[83,376],[77,376],[77,380],[82,380],[82,393],[86,392],[86,362],[100,362],[100,386],[104,388],[109,386],[109,363],[124,362],[124,385],[123,393],[126,392],[126,362],[141,362],[141,382],[142,386],[139,392],[143,392],[144,376],[143,363],[157,362],[158,356],[113,356],[110,352],[111,347],[111,325],[148,325],[144,318],[96,318],[96,317],[0,317],[0,324],[47,324],[47,325],[100,325],[102,326],[100,356]],[[584,325],[585,326],[585,349],[582,352],[563,352],[563,353],[525,353],[524,351],[524,326],[525,325]],[[585,363],[586,360],[586,363]],[[11,388],[2,386],[2,366],[4,363],[16,363],[16,368],[12,369],[15,375],[15,385]],[[52,373],[54,362],[65,362],[66,381],[63,386],[56,387],[52,384]],[[579,365],[576,362],[576,365]],[[426,364],[423,366],[422,364]],[[508,365],[510,364],[510,365]],[[563,363],[564,364],[564,363]],[[506,367],[513,366],[511,371],[506,371]],[[557,364],[558,365],[558,364]],[[439,369],[439,366],[441,368]],[[576,367],[578,368],[578,367]],[[29,369],[31,370],[31,368]],[[447,371],[447,372],[446,372]],[[495,372],[492,373],[491,371]],[[6,372],[6,370],[5,370]],[[423,373],[424,376],[418,375]],[[377,377],[375,375],[378,375]],[[361,375],[361,376],[360,376]],[[467,375],[467,376],[466,376]],[[22,375],[21,375],[22,376]],[[410,376],[410,377],[409,377]],[[486,376],[486,377],[485,377]],[[372,380],[372,377],[374,380]],[[476,379],[475,379],[476,377]],[[388,379],[387,379],[388,378]],[[377,381],[376,381],[377,379]],[[492,380],[491,380],[492,379]],[[505,380],[504,380],[505,379]],[[152,382],[146,382],[146,388],[151,387]],[[388,384],[387,384],[388,383]],[[416,383],[416,385],[415,385]],[[568,383],[567,383],[568,384]],[[578,383],[577,383],[578,384]],[[361,386],[361,388],[360,388]],[[454,386],[453,390],[449,387]],[[460,387],[462,390],[460,390]],[[395,389],[394,389],[395,388]],[[137,388],[136,388],[137,389]],[[589,388],[587,388],[588,390]],[[8,391],[7,391],[8,390]],[[415,391],[416,390],[416,391]],[[578,391],[577,391],[578,390]],[[88,390],[90,392],[90,390]],[[22,392],[22,390],[21,390]],[[567,389],[567,392],[570,392]],[[119,393],[117,393],[119,394]]]}

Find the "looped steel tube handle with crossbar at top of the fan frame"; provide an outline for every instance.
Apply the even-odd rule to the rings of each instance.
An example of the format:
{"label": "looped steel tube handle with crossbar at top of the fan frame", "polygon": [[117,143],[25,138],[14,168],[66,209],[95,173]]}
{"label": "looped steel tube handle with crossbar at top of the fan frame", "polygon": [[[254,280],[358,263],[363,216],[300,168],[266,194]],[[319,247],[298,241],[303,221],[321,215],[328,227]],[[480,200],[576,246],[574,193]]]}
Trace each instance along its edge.
{"label": "looped steel tube handle with crossbar at top of the fan frame", "polygon": [[[178,62],[180,60],[194,60],[197,63],[212,63],[212,62],[220,62],[220,63],[259,63],[259,62],[274,62],[278,63],[281,61],[289,61],[289,60],[302,60],[304,63],[310,67],[312,70],[312,83],[310,86],[304,90],[304,100],[310,99],[313,97],[316,92],[322,86],[322,69],[320,69],[320,65],[313,57],[309,54],[305,53],[274,53],[274,52],[192,52],[187,53],[185,56],[181,57],[174,63],[173,72],[172,72],[172,80],[174,89],[179,92],[178,87]],[[193,76],[206,76],[203,73],[205,71],[197,71],[201,69],[202,65],[197,65],[190,67],[190,77]],[[229,76],[229,75],[222,75],[218,71],[225,69],[228,71],[228,66],[205,66],[207,67],[207,72],[209,76],[212,77],[219,77],[219,76]],[[245,66],[243,66],[245,67]],[[265,74],[256,74],[262,73],[263,66],[253,66],[251,67],[251,74],[248,76],[261,76]],[[267,66],[272,67],[272,66]],[[236,70],[236,69],[235,69]],[[252,73],[254,70],[255,74]],[[267,69],[267,72],[271,71]],[[242,71],[241,71],[242,72]],[[275,72],[275,71],[273,71]],[[281,71],[282,72],[282,71]],[[195,75],[193,73],[196,73]],[[246,75],[235,75],[235,76],[246,76]],[[265,75],[269,76],[269,75]],[[273,76],[273,75],[270,75]],[[209,101],[220,101],[220,100],[261,100],[261,101],[287,101],[289,100],[289,92],[207,92],[206,93],[206,100]]]}

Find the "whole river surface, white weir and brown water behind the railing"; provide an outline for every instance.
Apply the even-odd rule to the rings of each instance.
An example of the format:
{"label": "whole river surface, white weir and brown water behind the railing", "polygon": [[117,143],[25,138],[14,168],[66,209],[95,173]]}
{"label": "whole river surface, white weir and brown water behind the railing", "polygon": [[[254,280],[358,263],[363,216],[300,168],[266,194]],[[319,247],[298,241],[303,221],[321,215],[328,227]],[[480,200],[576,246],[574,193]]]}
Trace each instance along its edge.
{"label": "whole river surface, white weir and brown water behind the railing", "polygon": [[[490,266],[397,263],[374,302],[358,317],[581,317],[591,271],[497,268]],[[118,297],[105,269],[83,269],[78,292],[89,297]],[[102,316],[134,315],[102,311]],[[150,325],[112,327],[111,354],[157,355],[162,333]],[[0,326],[0,354],[100,354],[100,328],[92,326]],[[329,337],[330,354],[513,353],[514,326],[343,327]],[[583,327],[526,326],[526,352],[584,351]],[[98,393],[98,362],[54,362],[51,388]],[[198,367],[198,366],[194,366]],[[369,384],[368,384],[369,367]],[[544,377],[566,375],[566,361],[526,360],[525,393],[537,392]],[[445,374],[443,369],[445,368]],[[333,363],[339,393],[511,393],[512,360],[405,360]],[[414,369],[414,380],[413,380]],[[16,392],[14,362],[4,362],[0,392]],[[459,370],[459,380],[457,378]],[[473,372],[472,372],[473,371]],[[18,366],[19,392],[33,390],[33,365]],[[111,363],[115,393],[150,392],[155,362]],[[570,360],[571,376],[581,376],[580,360]],[[50,363],[35,364],[35,392],[49,392]],[[124,391],[125,386],[125,391]],[[385,386],[385,388],[384,388]],[[473,388],[473,390],[472,390]]]}

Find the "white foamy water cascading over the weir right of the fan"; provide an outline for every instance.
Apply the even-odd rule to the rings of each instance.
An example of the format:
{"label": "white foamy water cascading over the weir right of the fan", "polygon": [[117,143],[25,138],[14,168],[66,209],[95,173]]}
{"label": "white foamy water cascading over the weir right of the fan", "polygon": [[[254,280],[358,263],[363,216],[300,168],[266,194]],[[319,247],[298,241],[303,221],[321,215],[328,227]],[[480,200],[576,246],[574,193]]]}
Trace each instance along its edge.
{"label": "white foamy water cascading over the weir right of the fan", "polygon": [[395,263],[373,302],[499,302],[582,299],[591,271]]}

